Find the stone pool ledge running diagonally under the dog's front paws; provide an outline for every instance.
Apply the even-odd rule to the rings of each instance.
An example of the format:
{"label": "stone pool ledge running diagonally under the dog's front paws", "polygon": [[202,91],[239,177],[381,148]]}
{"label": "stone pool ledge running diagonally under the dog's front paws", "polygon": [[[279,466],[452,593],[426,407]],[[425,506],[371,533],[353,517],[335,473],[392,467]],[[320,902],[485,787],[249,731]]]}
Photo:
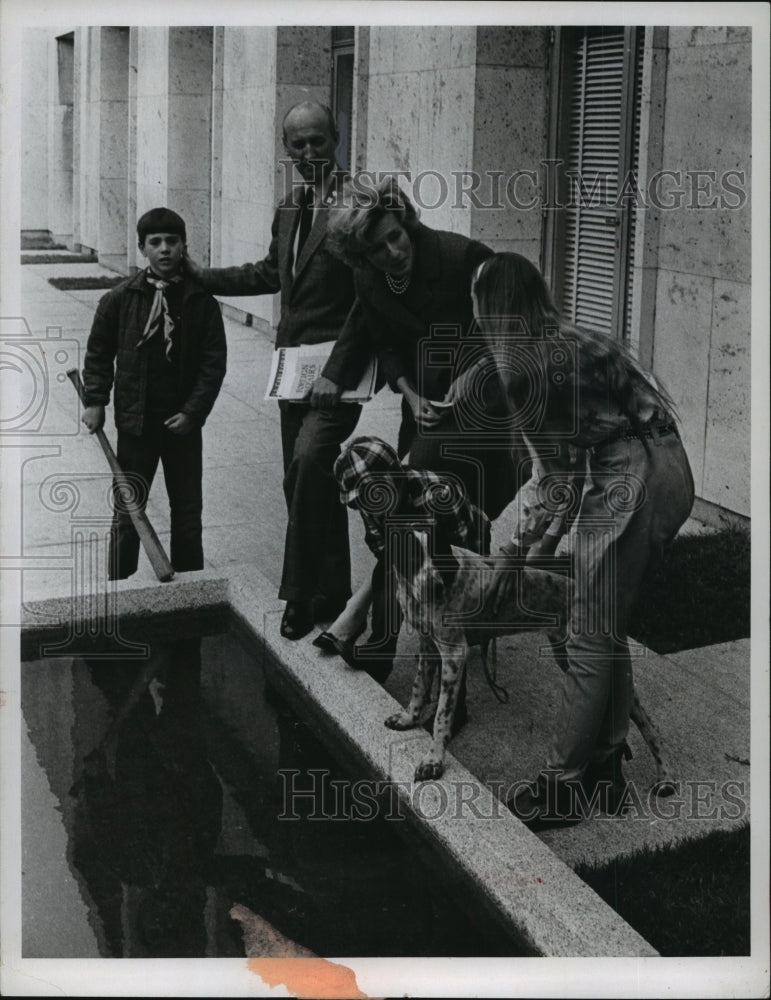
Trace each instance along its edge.
{"label": "stone pool ledge running diagonally under the dog's front paws", "polygon": [[[543,956],[658,954],[451,754],[441,780],[416,786],[428,735],[386,729],[383,720],[397,708],[387,691],[310,643],[283,639],[282,604],[261,574],[235,577],[230,604],[255,636],[268,675],[302,703],[299,714],[321,724],[335,749],[353,754],[364,776],[395,789],[413,830],[513,937]],[[480,815],[463,808],[469,800]]]}

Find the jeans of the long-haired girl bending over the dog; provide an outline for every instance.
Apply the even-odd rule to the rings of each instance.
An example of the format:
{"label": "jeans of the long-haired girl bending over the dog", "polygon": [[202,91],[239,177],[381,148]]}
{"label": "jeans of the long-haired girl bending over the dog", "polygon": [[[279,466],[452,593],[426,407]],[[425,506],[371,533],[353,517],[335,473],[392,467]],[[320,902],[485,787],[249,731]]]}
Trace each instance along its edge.
{"label": "jeans of the long-haired girl bending over the dog", "polygon": [[[632,663],[627,629],[645,575],[688,517],[693,477],[676,433],[620,440],[590,459],[573,525],[575,592],[565,669],[548,766],[558,780],[580,778],[629,729]],[[650,452],[650,454],[649,454]]]}

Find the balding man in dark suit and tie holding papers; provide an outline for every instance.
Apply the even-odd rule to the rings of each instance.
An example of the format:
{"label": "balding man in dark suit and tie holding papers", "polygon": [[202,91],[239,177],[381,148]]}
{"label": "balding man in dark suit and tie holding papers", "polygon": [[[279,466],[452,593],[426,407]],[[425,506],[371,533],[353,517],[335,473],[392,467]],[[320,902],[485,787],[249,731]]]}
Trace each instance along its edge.
{"label": "balding man in dark suit and tie holding papers", "polygon": [[[329,108],[305,101],[284,117],[284,148],[302,186],[278,206],[267,256],[231,268],[193,268],[219,295],[281,292],[276,347],[336,340],[354,302],[353,274],[326,250],[328,206],[345,174],[335,160],[338,131]],[[279,403],[288,525],[279,597],[281,634],[300,639],[334,618],[351,593],[348,515],[332,473],[361,406],[339,403],[341,388],[319,378],[307,402]]]}

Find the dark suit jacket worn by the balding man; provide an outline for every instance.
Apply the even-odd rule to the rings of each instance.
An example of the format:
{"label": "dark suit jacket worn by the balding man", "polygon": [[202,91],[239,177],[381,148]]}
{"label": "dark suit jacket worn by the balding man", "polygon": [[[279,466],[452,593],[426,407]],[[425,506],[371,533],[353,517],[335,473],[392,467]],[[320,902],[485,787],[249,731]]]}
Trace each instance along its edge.
{"label": "dark suit jacket worn by the balding man", "polygon": [[353,273],[327,252],[328,205],[345,174],[337,171],[316,210],[313,228],[293,268],[294,237],[302,190],[293,189],[276,209],[267,256],[241,267],[205,268],[200,284],[216,295],[272,295],[281,292],[276,347],[336,340],[355,299]]}

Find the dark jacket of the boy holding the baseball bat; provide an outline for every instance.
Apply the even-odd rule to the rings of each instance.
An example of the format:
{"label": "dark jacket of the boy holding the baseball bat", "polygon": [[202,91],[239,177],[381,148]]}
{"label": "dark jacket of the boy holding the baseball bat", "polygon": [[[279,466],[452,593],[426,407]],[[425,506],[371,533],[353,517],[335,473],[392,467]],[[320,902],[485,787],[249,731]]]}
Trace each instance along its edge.
{"label": "dark jacket of the boy holding the baseball bat", "polygon": [[[106,406],[114,378],[115,426],[129,434],[141,434],[144,423],[147,352],[138,350],[137,342],[154,295],[144,271],[111,289],[99,302],[86,349],[86,405]],[[183,275],[182,329],[176,337],[180,411],[202,426],[225,377],[227,346],[217,302],[188,275]]]}

